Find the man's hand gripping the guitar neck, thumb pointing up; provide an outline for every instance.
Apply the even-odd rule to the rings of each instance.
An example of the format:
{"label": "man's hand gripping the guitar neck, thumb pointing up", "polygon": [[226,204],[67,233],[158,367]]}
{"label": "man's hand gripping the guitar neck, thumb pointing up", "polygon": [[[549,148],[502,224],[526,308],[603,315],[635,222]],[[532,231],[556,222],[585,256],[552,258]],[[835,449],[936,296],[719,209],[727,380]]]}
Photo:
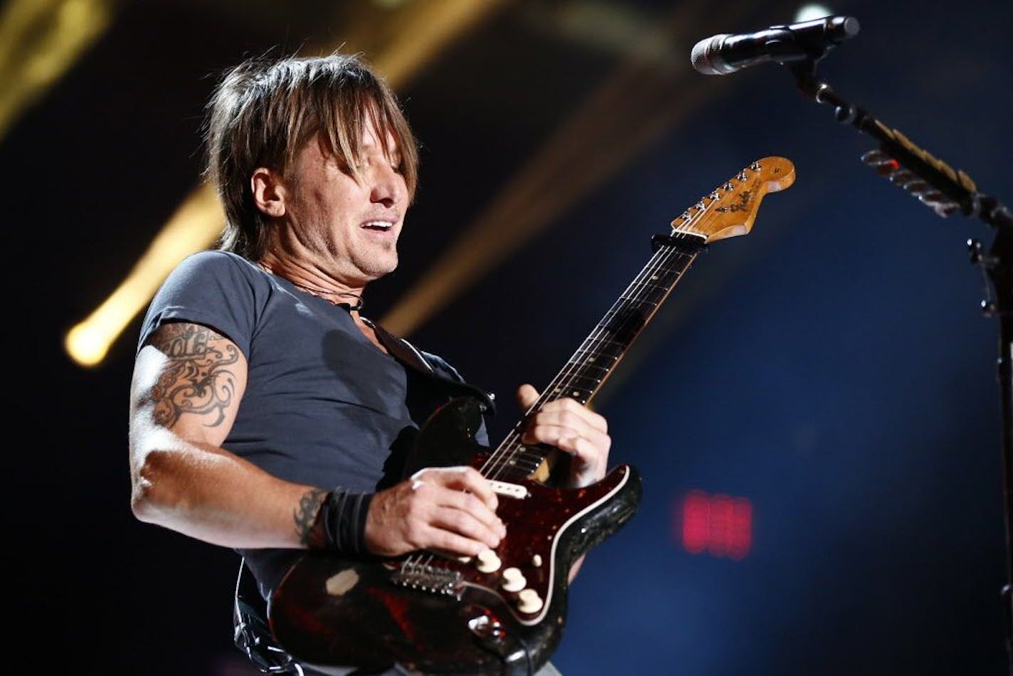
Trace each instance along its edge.
{"label": "man's hand gripping the guitar neck, thumb pointing up", "polygon": [[[539,393],[525,383],[517,390],[517,400],[527,410]],[[580,489],[601,480],[609,466],[612,438],[605,418],[575,399],[564,397],[544,404],[528,421],[521,441],[548,444],[572,456],[567,487]]]}

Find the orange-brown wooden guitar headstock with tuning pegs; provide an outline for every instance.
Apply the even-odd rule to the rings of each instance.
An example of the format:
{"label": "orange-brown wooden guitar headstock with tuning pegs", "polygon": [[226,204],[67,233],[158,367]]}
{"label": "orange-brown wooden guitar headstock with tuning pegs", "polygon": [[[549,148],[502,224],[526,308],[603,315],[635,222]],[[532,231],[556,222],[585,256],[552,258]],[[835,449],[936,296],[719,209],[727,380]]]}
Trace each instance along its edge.
{"label": "orange-brown wooden guitar headstock with tuning pegs", "polygon": [[753,228],[760,202],[795,182],[795,165],[784,157],[764,157],[704,196],[672,222],[679,233],[703,237],[706,242],[747,234]]}

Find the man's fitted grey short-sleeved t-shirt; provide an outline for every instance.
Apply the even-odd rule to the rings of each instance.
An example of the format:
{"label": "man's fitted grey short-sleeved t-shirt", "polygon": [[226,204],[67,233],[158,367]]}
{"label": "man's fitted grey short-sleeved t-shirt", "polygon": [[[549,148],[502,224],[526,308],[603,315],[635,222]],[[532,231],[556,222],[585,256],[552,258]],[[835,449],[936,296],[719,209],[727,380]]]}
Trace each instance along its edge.
{"label": "man's fitted grey short-sleeved t-shirt", "polygon": [[[418,428],[454,396],[484,392],[447,362],[400,342],[384,354],[347,308],[225,251],[189,255],[148,308],[138,350],[161,324],[187,321],[231,340],[248,365],[223,448],[290,481],[373,492],[402,478]],[[398,341],[398,339],[391,339]],[[392,355],[414,355],[414,363]],[[487,444],[484,425],[478,441]],[[240,549],[268,598],[299,550]]]}

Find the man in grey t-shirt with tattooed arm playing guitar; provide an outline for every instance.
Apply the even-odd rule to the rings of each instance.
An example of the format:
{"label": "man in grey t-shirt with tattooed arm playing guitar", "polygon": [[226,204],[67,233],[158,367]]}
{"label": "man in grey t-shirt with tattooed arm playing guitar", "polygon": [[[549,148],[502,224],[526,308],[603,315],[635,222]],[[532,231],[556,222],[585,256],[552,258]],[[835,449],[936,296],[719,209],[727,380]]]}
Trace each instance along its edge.
{"label": "man in grey t-shirt with tattooed arm playing guitar", "polygon": [[[235,548],[263,599],[307,549],[496,547],[497,497],[476,469],[404,476],[426,417],[475,390],[360,312],[366,286],[397,266],[416,184],[392,92],[352,56],[250,60],[217,87],[207,145],[226,226],[218,250],[170,274],[142,325],[137,518]],[[527,409],[539,394],[525,384],[518,397]],[[568,454],[570,486],[605,475],[605,420],[572,399],[541,406],[523,441]]]}

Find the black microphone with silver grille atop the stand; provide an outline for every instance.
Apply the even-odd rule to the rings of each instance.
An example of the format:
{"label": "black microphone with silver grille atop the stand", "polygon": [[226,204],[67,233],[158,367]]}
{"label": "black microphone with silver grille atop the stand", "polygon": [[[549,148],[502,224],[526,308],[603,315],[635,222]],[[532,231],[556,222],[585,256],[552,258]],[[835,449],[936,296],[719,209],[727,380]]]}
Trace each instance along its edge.
{"label": "black microphone with silver grille atop the stand", "polygon": [[858,19],[853,16],[825,16],[757,32],[713,35],[696,44],[690,61],[704,75],[727,75],[768,62],[819,60],[857,34]]}

